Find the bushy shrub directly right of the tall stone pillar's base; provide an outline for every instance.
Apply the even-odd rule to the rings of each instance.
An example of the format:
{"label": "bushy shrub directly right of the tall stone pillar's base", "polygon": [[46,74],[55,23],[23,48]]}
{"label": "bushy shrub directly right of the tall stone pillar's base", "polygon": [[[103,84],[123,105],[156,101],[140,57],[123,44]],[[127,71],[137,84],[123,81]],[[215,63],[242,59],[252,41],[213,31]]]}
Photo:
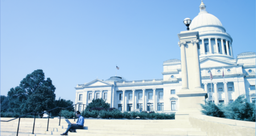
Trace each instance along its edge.
{"label": "bushy shrub directly right of the tall stone pillar's base", "polygon": [[224,117],[224,113],[220,110],[219,107],[221,107],[222,104],[217,106],[216,104],[212,103],[212,101],[206,101],[207,105],[200,104],[203,110],[202,113],[213,116],[213,117]]}

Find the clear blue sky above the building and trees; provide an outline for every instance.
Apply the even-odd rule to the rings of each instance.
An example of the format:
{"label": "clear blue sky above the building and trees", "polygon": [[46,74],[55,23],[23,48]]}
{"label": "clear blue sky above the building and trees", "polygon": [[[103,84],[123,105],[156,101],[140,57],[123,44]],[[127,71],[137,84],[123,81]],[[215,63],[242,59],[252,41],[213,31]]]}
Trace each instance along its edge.
{"label": "clear blue sky above the building and trees", "polygon": [[[203,1],[233,38],[234,57],[255,52],[255,1]],[[117,75],[162,79],[180,59],[177,33],[201,1],[1,1],[1,95],[42,69],[56,99],[75,101],[76,84]]]}

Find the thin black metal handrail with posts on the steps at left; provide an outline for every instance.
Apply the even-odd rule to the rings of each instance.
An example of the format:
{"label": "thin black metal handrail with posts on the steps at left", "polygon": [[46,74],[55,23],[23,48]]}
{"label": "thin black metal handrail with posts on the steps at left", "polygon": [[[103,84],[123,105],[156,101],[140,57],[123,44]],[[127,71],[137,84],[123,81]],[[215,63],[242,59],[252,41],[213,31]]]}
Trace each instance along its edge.
{"label": "thin black metal handrail with posts on the steps at left", "polygon": [[[77,105],[77,104],[73,104],[73,105],[71,105],[71,106],[69,106],[69,107],[73,107],[74,105],[75,105],[74,121],[76,121],[76,105]],[[80,104],[78,104],[78,105],[80,105]],[[85,105],[85,104],[82,104],[82,105]],[[69,108],[69,107],[67,107],[67,108]],[[60,118],[61,118],[61,109],[67,109],[67,108],[56,107],[56,108],[50,109],[49,111],[52,111],[52,110],[58,109],[58,108],[60,108]],[[12,119],[12,120],[9,120],[9,121],[13,121],[13,120],[16,120],[17,118],[19,118],[19,122],[20,122],[20,118],[25,117],[25,116],[27,116],[27,115],[29,115],[29,114],[35,114],[35,116],[34,116],[33,131],[32,131],[32,134],[34,134],[36,114],[44,114],[44,113],[47,113],[47,112],[48,112],[48,123],[47,123],[47,130],[46,130],[46,131],[48,131],[48,126],[49,126],[49,111],[42,112],[42,113],[31,112],[31,113],[24,114],[23,116],[16,117],[16,118],[14,118],[14,119]],[[84,111],[84,108],[83,108],[83,111]],[[9,122],[9,121],[3,121],[3,122]],[[59,121],[59,126],[60,126],[60,121]],[[18,123],[18,129],[17,129],[17,136],[18,136],[18,133],[19,133],[19,123]]]}

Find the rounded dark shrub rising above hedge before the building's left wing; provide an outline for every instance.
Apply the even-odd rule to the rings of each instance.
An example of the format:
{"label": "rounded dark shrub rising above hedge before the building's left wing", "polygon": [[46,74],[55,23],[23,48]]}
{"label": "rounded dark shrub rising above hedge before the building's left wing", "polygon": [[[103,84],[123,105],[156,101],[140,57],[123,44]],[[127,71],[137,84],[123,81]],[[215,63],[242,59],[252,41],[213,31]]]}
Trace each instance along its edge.
{"label": "rounded dark shrub rising above hedge before the building's left wing", "polygon": [[88,106],[86,106],[86,110],[89,110],[91,108],[109,108],[110,104],[106,103],[106,100],[101,99],[93,99],[92,103],[89,103]]}

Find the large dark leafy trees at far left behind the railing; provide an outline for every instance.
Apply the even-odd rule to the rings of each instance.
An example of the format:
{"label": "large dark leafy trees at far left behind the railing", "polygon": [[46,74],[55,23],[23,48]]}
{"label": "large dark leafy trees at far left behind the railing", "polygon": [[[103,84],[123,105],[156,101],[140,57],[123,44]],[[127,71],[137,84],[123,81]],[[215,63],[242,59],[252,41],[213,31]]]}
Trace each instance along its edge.
{"label": "large dark leafy trees at far left behind the railing", "polygon": [[[30,112],[43,112],[55,107],[69,107],[71,100],[55,100],[55,86],[52,80],[45,76],[43,70],[35,70],[24,78],[19,86],[11,88],[7,96],[1,95],[1,112],[26,114]],[[74,108],[68,108],[74,111]],[[60,109],[53,110],[52,116],[57,116]],[[43,114],[41,114],[41,117]]]}

